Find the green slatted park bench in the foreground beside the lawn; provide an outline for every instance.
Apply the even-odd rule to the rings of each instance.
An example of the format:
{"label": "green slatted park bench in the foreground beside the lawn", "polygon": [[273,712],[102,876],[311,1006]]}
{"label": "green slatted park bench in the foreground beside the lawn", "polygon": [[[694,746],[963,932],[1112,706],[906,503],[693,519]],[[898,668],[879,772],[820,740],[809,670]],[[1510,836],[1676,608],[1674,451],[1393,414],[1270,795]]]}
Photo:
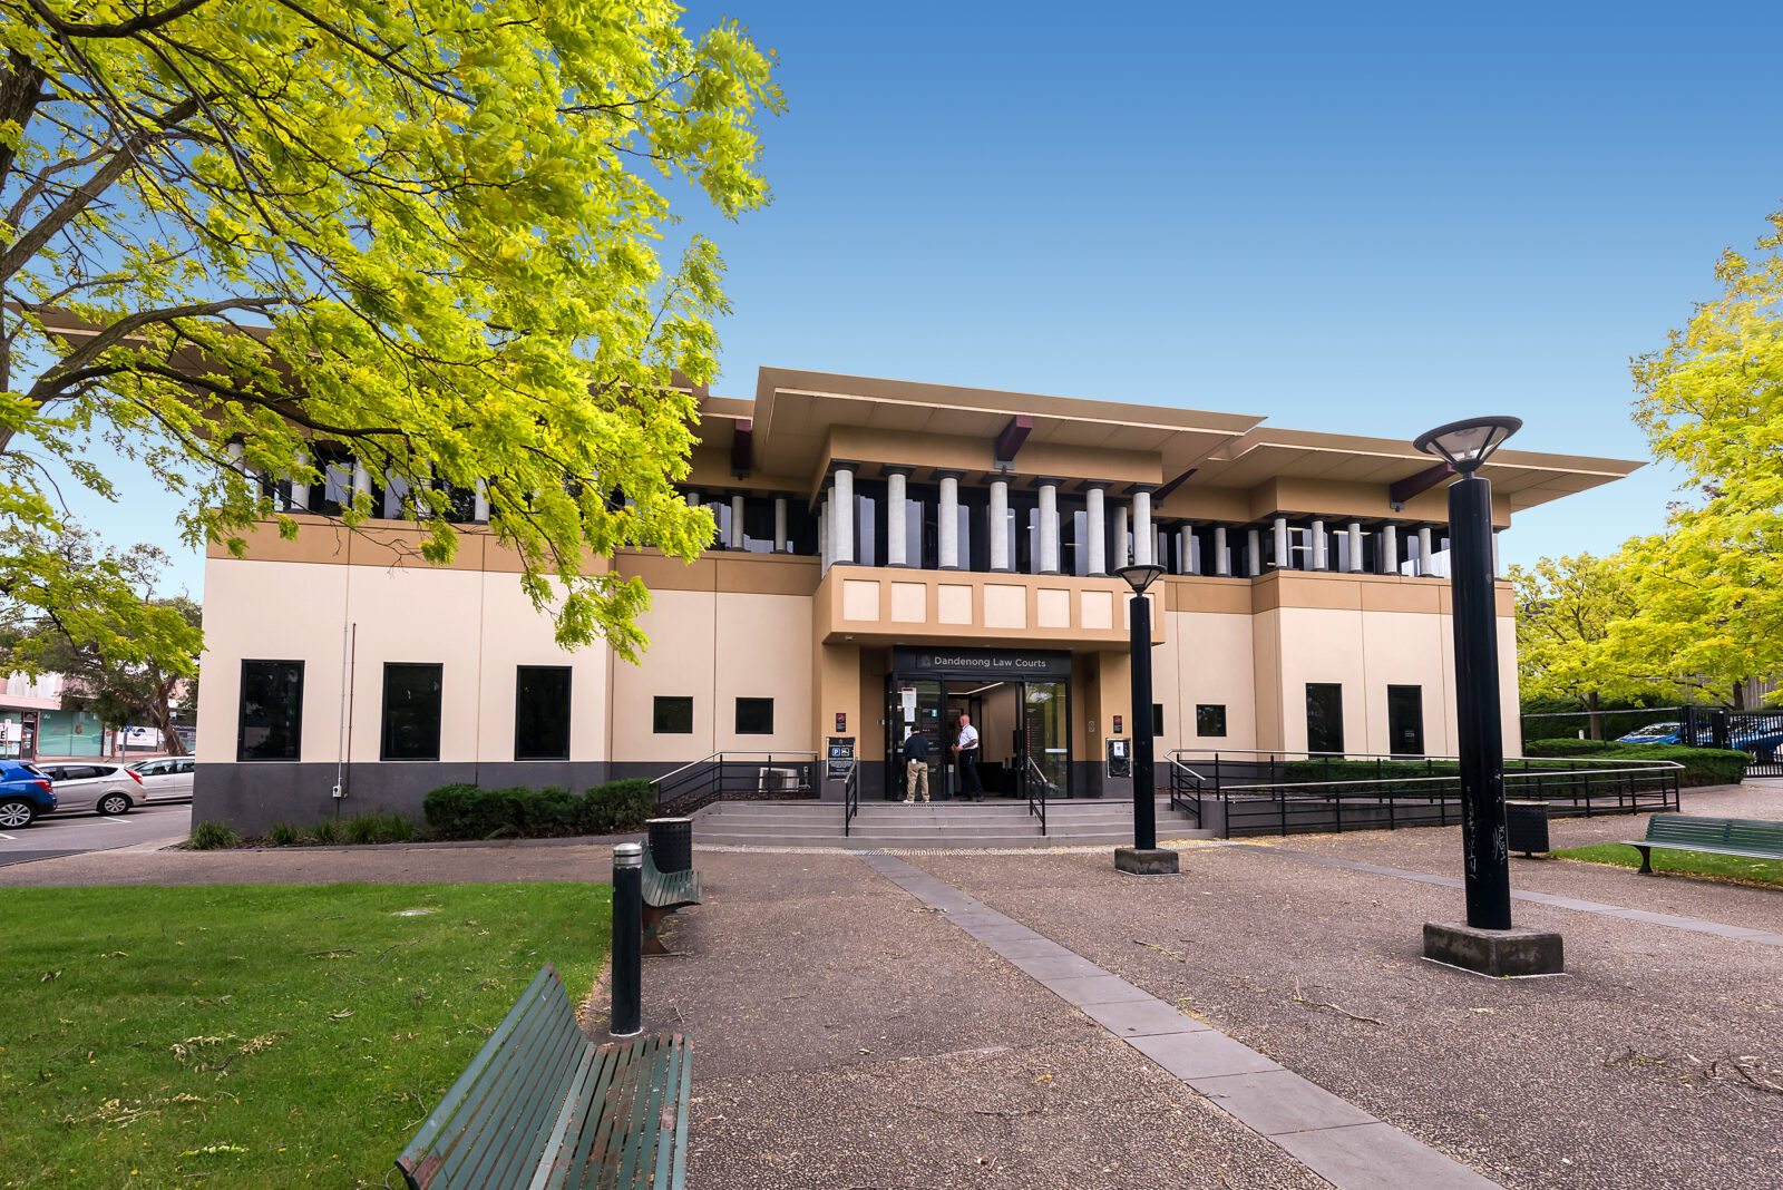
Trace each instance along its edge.
{"label": "green slatted park bench in the foreground beside the lawn", "polygon": [[396,1167],[410,1190],[681,1190],[688,1058],[679,1033],[596,1046],[546,964]]}

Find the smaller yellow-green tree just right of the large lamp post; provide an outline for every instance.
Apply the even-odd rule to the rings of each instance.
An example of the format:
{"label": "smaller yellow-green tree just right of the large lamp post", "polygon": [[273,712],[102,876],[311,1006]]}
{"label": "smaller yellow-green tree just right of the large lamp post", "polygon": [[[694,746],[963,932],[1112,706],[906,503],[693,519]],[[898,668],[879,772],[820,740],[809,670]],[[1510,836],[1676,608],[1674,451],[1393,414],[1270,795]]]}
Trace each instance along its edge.
{"label": "smaller yellow-green tree just right of the large lamp post", "polygon": [[1580,554],[1510,566],[1507,577],[1517,591],[1521,693],[1571,700],[1592,713],[1590,734],[1601,739],[1599,705],[1655,686],[1653,670],[1612,641],[1610,627],[1635,615],[1635,575],[1621,556]]}

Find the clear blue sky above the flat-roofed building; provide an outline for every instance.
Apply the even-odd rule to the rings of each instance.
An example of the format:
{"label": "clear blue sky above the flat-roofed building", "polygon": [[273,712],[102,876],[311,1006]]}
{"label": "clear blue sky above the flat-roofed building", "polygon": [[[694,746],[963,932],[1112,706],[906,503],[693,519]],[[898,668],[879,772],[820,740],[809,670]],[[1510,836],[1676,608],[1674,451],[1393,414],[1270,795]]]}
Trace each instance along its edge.
{"label": "clear blue sky above the flat-roofed building", "polygon": [[[1765,5],[694,4],[777,48],[774,205],[715,390],[758,365],[1646,458],[1630,356],[1783,207]],[[148,476],[87,513],[168,545]],[[1523,515],[1507,561],[1660,527],[1656,469]],[[178,579],[201,584],[194,558]]]}

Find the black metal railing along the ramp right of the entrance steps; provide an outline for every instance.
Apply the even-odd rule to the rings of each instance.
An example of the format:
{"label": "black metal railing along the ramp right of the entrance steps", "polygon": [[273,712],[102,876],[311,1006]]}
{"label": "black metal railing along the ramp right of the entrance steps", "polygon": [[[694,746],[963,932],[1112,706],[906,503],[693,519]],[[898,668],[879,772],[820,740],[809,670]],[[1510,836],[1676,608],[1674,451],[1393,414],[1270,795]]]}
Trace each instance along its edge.
{"label": "black metal railing along the ramp right of the entrance steps", "polygon": [[[1321,764],[1323,762],[1323,764]],[[1337,766],[1337,768],[1334,768]],[[1335,773],[1319,778],[1318,771]],[[1373,768],[1375,775],[1353,777]],[[1460,773],[1453,757],[1307,757],[1214,754],[1189,766],[1170,754],[1170,803],[1223,837],[1446,827],[1460,821]],[[1507,759],[1505,796],[1542,802],[1553,818],[1676,811],[1683,766],[1672,761]],[[1259,777],[1262,780],[1259,780]],[[1293,777],[1286,780],[1284,777]]]}

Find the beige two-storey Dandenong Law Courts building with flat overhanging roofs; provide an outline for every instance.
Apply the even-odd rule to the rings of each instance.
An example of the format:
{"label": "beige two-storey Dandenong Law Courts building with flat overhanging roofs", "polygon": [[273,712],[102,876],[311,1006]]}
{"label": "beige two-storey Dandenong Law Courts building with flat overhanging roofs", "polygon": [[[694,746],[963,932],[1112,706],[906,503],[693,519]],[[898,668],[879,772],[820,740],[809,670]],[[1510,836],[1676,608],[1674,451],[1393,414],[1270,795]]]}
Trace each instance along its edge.
{"label": "beige two-storey Dandenong Law Courts building with flat overhanging roofs", "polygon": [[[294,540],[212,549],[198,818],[308,821],[337,787],[414,812],[449,780],[583,787],[831,738],[872,796],[911,730],[943,752],[961,711],[991,795],[1025,771],[1125,791],[1111,741],[1146,711],[1159,755],[1455,752],[1444,472],[1407,442],[785,369],[701,410],[685,488],[715,545],[612,561],[653,593],[637,666],[556,647],[469,497],[449,566],[399,520],[344,529],[328,485],[292,493]],[[1635,467],[1507,449],[1482,474],[1505,529]],[[1166,570],[1152,709],[1129,705],[1129,561]],[[1498,615],[1516,750],[1507,584]]]}

